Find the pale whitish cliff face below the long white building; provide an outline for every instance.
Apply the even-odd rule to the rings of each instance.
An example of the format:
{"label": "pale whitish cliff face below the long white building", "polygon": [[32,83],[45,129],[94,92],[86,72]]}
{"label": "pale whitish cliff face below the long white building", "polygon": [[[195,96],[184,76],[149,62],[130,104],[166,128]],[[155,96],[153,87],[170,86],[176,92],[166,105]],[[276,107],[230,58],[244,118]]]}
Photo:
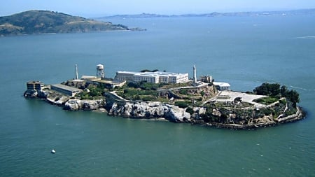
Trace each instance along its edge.
{"label": "pale whitish cliff face below the long white building", "polygon": [[131,118],[165,118],[172,122],[190,122],[190,113],[178,106],[162,104],[160,102],[136,102],[136,103],[107,103],[106,110],[109,115],[117,115]]}

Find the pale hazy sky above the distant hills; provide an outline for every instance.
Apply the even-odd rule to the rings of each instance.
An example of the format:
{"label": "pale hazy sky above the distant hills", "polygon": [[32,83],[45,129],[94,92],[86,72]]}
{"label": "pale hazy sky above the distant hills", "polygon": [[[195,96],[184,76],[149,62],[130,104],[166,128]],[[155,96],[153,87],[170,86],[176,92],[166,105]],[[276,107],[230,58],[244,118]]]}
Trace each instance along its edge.
{"label": "pale hazy sky above the distant hills", "polygon": [[52,10],[83,17],[116,14],[184,14],[315,8],[315,0],[1,0],[0,16]]}

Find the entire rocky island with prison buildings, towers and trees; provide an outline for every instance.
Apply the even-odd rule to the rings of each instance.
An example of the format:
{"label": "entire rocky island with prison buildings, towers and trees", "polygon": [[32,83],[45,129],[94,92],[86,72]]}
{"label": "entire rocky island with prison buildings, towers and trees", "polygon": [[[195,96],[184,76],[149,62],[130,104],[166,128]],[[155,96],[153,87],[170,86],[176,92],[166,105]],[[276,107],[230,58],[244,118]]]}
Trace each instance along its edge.
{"label": "entire rocky island with prison buildings, towers and trees", "polygon": [[96,76],[76,76],[59,84],[27,82],[26,98],[39,98],[68,111],[104,111],[124,118],[169,120],[205,127],[256,129],[305,118],[299,94],[278,83],[262,83],[251,92],[236,92],[212,76],[188,73],[117,71],[106,78],[104,65]]}

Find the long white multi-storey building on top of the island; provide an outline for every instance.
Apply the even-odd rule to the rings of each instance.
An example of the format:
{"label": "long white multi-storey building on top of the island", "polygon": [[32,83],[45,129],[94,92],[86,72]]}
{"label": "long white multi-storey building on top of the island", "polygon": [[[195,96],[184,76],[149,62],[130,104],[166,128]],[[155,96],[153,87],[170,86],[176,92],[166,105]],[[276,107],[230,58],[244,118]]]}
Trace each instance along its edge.
{"label": "long white multi-storey building on top of the island", "polygon": [[115,79],[148,83],[187,83],[188,73],[118,71]]}

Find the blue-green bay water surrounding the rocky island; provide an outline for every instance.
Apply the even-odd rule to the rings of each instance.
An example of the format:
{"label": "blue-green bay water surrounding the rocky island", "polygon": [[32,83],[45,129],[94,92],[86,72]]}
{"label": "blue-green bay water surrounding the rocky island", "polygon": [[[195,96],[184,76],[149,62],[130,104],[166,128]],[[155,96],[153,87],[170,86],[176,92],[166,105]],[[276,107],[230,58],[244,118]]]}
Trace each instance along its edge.
{"label": "blue-green bay water surrounding the rocky island", "polygon": [[[0,38],[0,176],[315,176],[315,17],[106,19],[148,31]],[[299,122],[232,131],[69,112],[22,97],[28,80],[116,71],[211,75],[232,90],[300,92]],[[50,153],[55,149],[57,153]]]}

